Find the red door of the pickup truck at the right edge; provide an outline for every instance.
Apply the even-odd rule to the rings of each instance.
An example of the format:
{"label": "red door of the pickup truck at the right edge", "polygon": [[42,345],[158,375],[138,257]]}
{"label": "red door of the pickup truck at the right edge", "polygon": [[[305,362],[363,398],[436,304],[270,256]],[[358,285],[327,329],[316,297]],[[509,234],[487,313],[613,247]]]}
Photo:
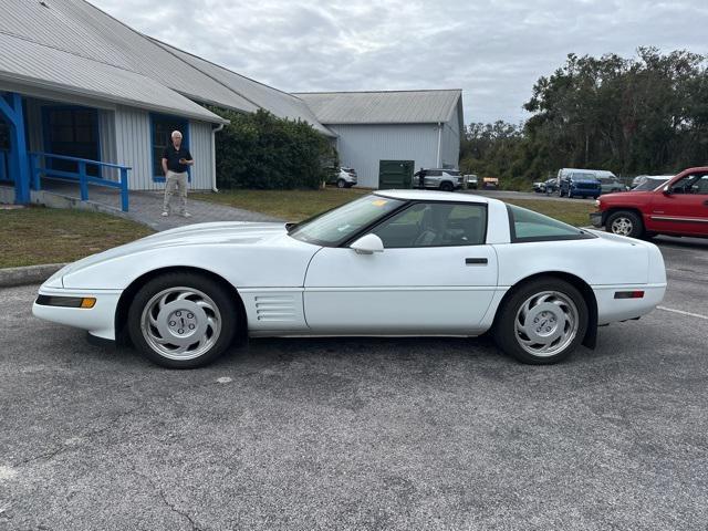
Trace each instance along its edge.
{"label": "red door of the pickup truck at the right edge", "polygon": [[686,175],[652,200],[652,230],[708,236],[708,174]]}

